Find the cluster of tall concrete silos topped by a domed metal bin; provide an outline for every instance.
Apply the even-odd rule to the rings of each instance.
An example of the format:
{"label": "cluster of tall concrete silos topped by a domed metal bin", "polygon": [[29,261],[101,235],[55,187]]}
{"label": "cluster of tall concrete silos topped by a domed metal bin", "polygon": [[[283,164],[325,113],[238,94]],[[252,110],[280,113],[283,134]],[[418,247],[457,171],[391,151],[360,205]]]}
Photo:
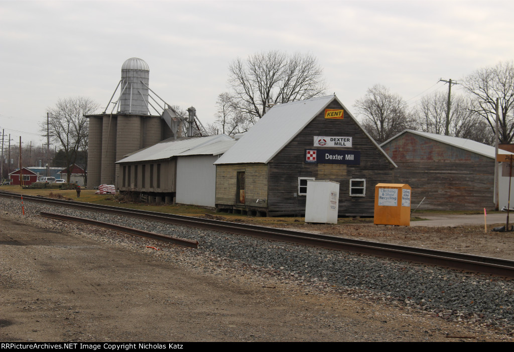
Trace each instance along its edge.
{"label": "cluster of tall concrete silos topped by a domed metal bin", "polygon": [[[180,118],[150,89],[149,78],[150,69],[144,60],[137,57],[127,59],[121,66],[121,79],[103,113],[87,116],[88,188],[104,183],[117,185],[117,160],[161,140],[181,135]],[[113,101],[118,91],[118,99]],[[112,106],[110,112],[107,111],[109,106]]]}

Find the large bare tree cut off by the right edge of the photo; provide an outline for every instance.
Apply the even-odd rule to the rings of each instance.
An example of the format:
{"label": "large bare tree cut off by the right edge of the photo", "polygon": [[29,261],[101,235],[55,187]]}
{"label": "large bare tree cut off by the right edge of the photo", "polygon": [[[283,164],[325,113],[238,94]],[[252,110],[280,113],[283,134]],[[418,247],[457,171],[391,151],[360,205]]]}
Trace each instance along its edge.
{"label": "large bare tree cut off by the right edge of the photo", "polygon": [[472,97],[471,111],[483,117],[493,133],[496,99],[500,98],[500,143],[511,143],[514,137],[514,61],[476,70],[464,79],[462,86]]}

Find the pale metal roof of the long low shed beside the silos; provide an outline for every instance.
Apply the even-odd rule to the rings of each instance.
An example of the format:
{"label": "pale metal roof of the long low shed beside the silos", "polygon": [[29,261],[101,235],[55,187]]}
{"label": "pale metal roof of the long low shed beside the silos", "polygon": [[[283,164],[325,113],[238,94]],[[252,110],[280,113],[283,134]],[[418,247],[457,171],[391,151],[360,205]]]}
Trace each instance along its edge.
{"label": "pale metal roof of the long low shed beside the silos", "polygon": [[[171,157],[178,156],[181,153],[186,152],[190,152],[190,154],[187,155],[195,155],[194,149],[199,147],[207,147],[210,144],[220,141],[233,141],[233,139],[227,135],[221,134],[217,136],[192,137],[182,140],[171,140],[167,142],[161,142],[155,144],[152,147],[148,147],[140,151],[137,151],[117,161],[116,163],[169,159]],[[213,153],[216,152],[217,149],[219,149],[219,146],[213,148]],[[205,153],[206,150],[208,149],[204,149],[204,152],[200,154],[208,154]]]}

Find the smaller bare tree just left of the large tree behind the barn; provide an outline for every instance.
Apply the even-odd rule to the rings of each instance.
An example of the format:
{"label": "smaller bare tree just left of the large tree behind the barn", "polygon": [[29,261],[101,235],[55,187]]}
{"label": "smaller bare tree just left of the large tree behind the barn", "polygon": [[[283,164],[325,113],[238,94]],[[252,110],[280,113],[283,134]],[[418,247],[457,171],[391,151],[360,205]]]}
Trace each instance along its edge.
{"label": "smaller bare tree just left of the large tree behind the barn", "polygon": [[216,120],[208,125],[210,134],[234,135],[243,133],[254,125],[255,120],[245,118],[243,113],[237,110],[234,98],[227,92],[219,94],[216,100]]}

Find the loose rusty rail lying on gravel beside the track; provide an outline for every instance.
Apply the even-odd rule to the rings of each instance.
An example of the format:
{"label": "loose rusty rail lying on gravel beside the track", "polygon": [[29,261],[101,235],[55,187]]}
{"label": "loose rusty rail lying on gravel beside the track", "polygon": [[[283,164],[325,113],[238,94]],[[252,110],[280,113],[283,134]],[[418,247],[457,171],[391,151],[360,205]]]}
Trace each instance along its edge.
{"label": "loose rusty rail lying on gravel beside the track", "polygon": [[160,234],[156,234],[154,232],[133,229],[132,227],[115,225],[110,222],[103,222],[103,221],[91,220],[91,219],[86,219],[86,218],[79,218],[76,216],[62,215],[62,214],[56,214],[56,213],[47,213],[47,212],[40,212],[39,215],[41,215],[45,218],[51,218],[51,219],[56,219],[56,220],[74,221],[74,222],[85,223],[88,225],[100,226],[100,227],[104,227],[105,229],[113,230],[116,232],[121,232],[121,233],[128,234],[128,235],[134,235],[134,236],[138,236],[138,237],[151,238],[151,239],[158,240],[158,241],[174,243],[174,244],[177,244],[182,247],[198,248],[198,241],[192,241],[192,240],[187,240],[187,239],[172,237],[172,236],[167,236],[167,235],[160,235]]}

